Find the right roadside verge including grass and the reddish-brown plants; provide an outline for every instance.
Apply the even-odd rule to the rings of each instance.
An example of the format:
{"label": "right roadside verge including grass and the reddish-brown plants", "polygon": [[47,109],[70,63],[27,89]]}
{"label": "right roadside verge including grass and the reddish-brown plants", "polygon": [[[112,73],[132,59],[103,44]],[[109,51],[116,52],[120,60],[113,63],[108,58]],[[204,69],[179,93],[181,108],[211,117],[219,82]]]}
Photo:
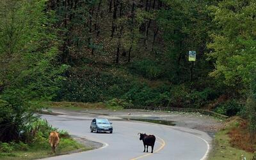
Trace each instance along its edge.
{"label": "right roadside verge including grass and the reddish-brown plants", "polygon": [[214,137],[209,160],[243,159],[243,157],[252,159],[253,152],[256,153],[256,138],[255,135],[250,136],[248,131],[245,120],[239,117],[227,119],[223,128]]}

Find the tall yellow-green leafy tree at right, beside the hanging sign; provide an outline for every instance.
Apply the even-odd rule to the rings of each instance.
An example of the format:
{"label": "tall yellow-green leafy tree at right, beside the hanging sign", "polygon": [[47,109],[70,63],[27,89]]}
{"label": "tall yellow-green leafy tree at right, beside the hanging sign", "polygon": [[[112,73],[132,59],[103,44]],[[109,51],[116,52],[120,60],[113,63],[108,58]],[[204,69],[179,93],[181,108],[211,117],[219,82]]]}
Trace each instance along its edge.
{"label": "tall yellow-green leafy tree at right, beside the hanging sign", "polygon": [[255,135],[256,3],[225,0],[211,11],[218,25],[208,45],[212,50],[209,57],[215,61],[211,76],[223,80],[233,93],[248,97],[246,117]]}

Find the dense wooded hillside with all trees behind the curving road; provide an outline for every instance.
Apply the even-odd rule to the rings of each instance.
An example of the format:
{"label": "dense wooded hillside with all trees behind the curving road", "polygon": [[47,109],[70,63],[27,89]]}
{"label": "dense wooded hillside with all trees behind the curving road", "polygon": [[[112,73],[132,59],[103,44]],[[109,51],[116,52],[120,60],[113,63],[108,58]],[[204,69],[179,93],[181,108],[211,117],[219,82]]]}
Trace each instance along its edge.
{"label": "dense wooded hillside with all trees behind the curving road", "polygon": [[200,108],[254,135],[255,47],[255,0],[1,0],[0,142],[42,101]]}

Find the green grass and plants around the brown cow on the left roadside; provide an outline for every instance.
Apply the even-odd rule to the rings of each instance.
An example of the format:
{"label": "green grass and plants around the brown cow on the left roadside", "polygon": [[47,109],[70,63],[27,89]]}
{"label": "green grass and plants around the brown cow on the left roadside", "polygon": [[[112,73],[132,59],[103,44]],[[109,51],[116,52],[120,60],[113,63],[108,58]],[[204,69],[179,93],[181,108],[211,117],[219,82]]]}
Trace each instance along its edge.
{"label": "green grass and plants around the brown cow on the left roadside", "polygon": [[[26,133],[26,141],[0,143],[0,159],[10,160],[29,160],[40,159],[43,157],[68,154],[70,152],[80,152],[90,150],[84,144],[77,143],[65,131],[58,131],[49,126],[46,121],[38,120],[31,126],[31,133]],[[56,149],[56,154],[51,152],[49,144],[50,131],[58,131],[60,143]],[[24,138],[25,135],[23,135]]]}

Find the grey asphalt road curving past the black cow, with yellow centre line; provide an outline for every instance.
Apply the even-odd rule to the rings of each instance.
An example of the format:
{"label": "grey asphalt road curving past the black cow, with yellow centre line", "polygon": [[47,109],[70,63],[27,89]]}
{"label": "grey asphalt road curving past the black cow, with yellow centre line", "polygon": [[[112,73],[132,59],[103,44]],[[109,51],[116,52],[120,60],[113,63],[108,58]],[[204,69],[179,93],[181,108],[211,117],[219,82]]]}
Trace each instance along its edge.
{"label": "grey asphalt road curving past the black cow, with yellow centre line", "polygon": [[[71,135],[103,143],[100,149],[47,158],[65,159],[206,159],[211,148],[211,137],[202,131],[176,126],[164,126],[147,122],[110,120],[113,133],[90,133],[90,122],[97,115],[68,117],[67,115],[42,115],[50,124],[67,130]],[[143,142],[138,133],[153,134],[157,137],[154,153],[143,152]],[[151,147],[148,147],[148,152]]]}

